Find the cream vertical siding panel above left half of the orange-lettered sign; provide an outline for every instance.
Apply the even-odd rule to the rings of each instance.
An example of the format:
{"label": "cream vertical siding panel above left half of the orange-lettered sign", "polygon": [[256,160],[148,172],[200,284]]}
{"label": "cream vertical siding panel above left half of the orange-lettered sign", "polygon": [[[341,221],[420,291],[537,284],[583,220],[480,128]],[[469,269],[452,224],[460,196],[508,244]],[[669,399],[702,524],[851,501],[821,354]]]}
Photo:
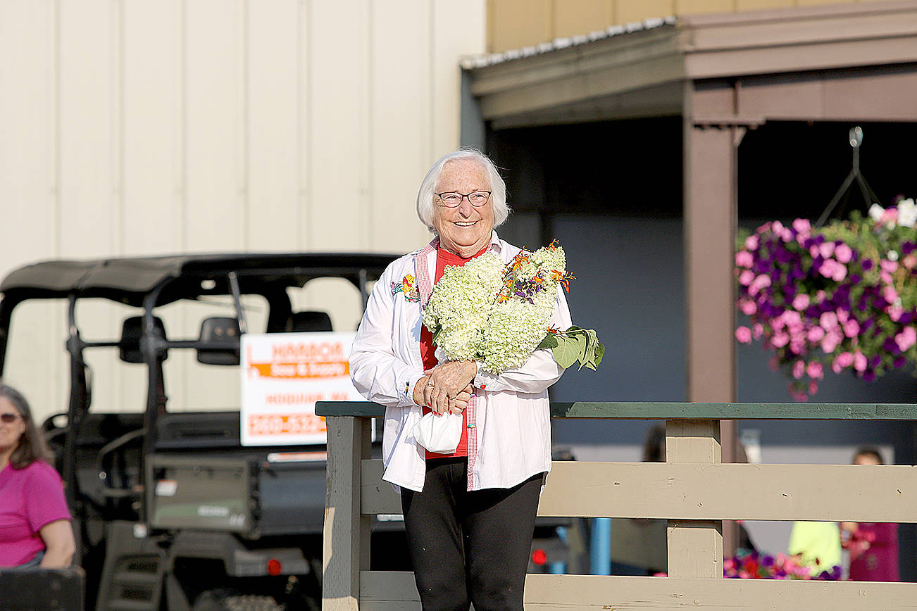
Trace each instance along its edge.
{"label": "cream vertical siding panel above left half of the orange-lettered sign", "polygon": [[296,0],[249,5],[248,245],[297,244]]}

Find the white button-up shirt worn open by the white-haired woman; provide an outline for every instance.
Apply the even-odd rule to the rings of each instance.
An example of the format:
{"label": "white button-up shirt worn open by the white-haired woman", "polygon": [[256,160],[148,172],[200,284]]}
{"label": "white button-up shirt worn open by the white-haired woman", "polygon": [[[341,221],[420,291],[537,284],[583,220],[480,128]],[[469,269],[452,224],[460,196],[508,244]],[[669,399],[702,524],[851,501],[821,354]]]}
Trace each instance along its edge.
{"label": "white button-up shirt worn open by the white-haired woman", "polygon": [[[350,353],[354,386],[370,401],[386,406],[382,436],[382,479],[422,490],[425,449],[414,440],[422,408],[414,385],[424,376],[420,355],[423,289],[436,273],[435,239],[422,250],[392,262],[372,289]],[[490,250],[508,263],[520,249],[492,234]],[[407,278],[411,276],[412,278]],[[423,282],[420,283],[423,288]],[[556,329],[570,326],[563,289],[550,319]],[[479,369],[475,398],[467,410],[468,489],[508,488],[551,468],[551,426],[547,387],[563,373],[550,350],[536,350],[525,365],[493,375]]]}

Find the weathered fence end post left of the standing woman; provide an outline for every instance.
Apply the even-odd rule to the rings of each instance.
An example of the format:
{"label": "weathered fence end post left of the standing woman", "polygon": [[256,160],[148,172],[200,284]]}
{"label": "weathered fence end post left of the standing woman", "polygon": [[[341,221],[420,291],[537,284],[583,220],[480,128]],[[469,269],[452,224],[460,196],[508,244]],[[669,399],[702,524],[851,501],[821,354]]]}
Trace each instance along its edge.
{"label": "weathered fence end post left of the standing woman", "polygon": [[370,569],[370,517],[360,514],[360,469],[370,418],[330,416],[322,579],[325,611],[359,609],[359,572]]}

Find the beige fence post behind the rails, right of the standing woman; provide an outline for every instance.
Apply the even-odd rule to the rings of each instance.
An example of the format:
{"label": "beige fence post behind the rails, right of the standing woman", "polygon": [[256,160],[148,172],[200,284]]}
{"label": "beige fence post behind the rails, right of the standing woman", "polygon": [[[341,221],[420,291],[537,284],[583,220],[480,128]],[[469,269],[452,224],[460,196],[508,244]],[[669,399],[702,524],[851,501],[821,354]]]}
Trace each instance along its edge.
{"label": "beige fence post behind the rails, right of the standing woman", "polygon": [[[721,463],[720,421],[667,420],[666,462]],[[667,540],[670,577],[723,577],[722,521],[669,519]]]}

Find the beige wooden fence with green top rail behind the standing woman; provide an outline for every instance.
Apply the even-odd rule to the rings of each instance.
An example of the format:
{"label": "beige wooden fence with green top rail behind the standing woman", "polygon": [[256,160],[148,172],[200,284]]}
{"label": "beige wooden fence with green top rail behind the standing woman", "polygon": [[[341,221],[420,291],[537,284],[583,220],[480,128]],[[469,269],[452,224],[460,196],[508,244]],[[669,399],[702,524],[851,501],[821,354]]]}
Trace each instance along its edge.
{"label": "beige wooden fence with green top rail behind the standing woman", "polygon": [[[328,427],[323,608],[419,609],[412,573],[370,571],[370,516],[401,513],[370,458],[373,403]],[[722,464],[720,420],[917,420],[917,405],[552,403],[553,418],[666,420],[666,463],[555,462],[539,516],[668,519],[668,578],[530,574],[531,609],[917,609],[917,584],[723,579],[724,519],[917,522],[917,467]]]}

